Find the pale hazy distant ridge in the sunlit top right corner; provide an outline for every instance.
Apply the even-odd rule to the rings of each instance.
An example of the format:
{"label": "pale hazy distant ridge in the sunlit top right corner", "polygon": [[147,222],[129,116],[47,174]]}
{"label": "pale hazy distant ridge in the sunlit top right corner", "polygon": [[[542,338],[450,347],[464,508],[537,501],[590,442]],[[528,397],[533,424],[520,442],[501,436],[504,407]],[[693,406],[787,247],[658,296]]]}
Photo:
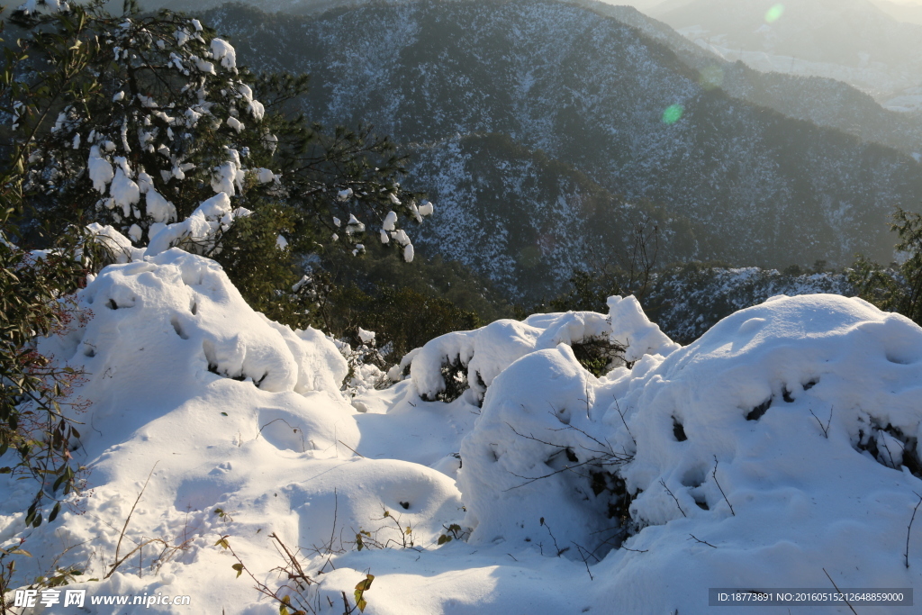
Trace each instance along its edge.
{"label": "pale hazy distant ridge in the sunlit top right corner", "polygon": [[[872,0],[691,0],[649,14],[728,60],[833,77],[879,101],[922,84],[922,25]],[[770,10],[771,9],[771,10]]]}

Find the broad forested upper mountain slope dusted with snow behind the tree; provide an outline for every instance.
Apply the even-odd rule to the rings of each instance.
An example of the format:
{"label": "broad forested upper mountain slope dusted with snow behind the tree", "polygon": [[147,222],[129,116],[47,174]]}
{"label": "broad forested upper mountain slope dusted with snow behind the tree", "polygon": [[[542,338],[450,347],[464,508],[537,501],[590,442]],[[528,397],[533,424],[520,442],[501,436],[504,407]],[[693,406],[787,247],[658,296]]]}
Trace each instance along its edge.
{"label": "broad forested upper mountain slope dusted with snow behind the tree", "polygon": [[[244,61],[310,72],[304,110],[404,142],[499,132],[628,201],[706,226],[739,265],[889,260],[887,216],[915,207],[914,160],[706,89],[668,48],[553,2],[414,2],[318,18],[209,15]],[[283,41],[279,44],[279,41]],[[664,111],[681,105],[675,124]]]}

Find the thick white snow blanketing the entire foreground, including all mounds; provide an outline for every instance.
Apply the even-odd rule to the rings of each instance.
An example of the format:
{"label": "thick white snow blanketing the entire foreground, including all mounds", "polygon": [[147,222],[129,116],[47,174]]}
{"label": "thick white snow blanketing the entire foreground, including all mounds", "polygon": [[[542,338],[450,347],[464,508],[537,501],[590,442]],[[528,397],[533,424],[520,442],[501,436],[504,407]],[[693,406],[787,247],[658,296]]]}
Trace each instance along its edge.
{"label": "thick white snow blanketing the entire foreground, including all mounds", "polygon": [[[79,302],[87,323],[42,349],[88,373],[92,489],[25,529],[32,485],[2,477],[0,541],[34,556],[16,585],[62,551],[100,580],[67,586],[83,609],[26,612],[278,612],[254,589],[297,581],[272,536],[311,579],[301,599],[337,615],[367,574],[376,615],[689,615],[712,587],[922,586],[922,329],[866,302],[775,297],[682,348],[612,298],[437,338],[354,398],[332,341],[254,313],[206,258],[110,266]],[[574,355],[593,340],[626,347],[601,378]],[[426,401],[453,361],[472,387]],[[191,604],[90,604],[145,594]]]}

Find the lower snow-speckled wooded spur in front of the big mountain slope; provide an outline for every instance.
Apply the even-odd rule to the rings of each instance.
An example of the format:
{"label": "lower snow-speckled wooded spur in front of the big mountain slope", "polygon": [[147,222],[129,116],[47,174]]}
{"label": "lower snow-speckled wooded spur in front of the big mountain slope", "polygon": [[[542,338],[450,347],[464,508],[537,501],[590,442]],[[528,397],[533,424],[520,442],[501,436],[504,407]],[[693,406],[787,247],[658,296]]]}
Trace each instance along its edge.
{"label": "lower snow-speckled wooded spur in front of the big mountain slope", "polygon": [[438,207],[413,233],[414,244],[467,264],[516,301],[555,296],[574,269],[623,254],[638,226],[656,227],[661,263],[705,257],[702,246],[711,242],[700,225],[626,203],[508,136],[452,137],[408,153],[405,187],[426,190]]}

